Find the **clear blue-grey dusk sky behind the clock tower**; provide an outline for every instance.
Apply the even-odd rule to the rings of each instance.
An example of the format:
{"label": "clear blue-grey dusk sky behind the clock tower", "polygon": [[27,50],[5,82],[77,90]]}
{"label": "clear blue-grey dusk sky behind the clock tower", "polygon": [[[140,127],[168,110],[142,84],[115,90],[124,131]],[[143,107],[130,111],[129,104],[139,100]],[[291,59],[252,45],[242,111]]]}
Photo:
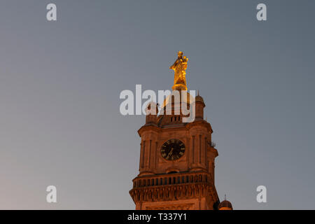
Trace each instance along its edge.
{"label": "clear blue-grey dusk sky behind the clock tower", "polygon": [[[315,209],[314,10],[308,0],[1,0],[0,209],[134,209],[145,117],[120,115],[119,95],[170,90],[178,50],[214,130],[220,199]],[[50,185],[57,204],[45,201]],[[267,203],[255,200],[260,185]]]}

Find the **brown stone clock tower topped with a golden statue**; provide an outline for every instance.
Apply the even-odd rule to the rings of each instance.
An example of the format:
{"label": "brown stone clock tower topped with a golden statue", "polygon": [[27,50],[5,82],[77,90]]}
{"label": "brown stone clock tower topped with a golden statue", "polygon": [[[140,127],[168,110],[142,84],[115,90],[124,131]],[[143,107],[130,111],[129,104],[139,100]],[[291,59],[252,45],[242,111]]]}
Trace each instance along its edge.
{"label": "brown stone clock tower topped with a golden statue", "polygon": [[[218,152],[211,141],[211,125],[204,120],[204,100],[199,93],[192,97],[186,92],[187,62],[188,58],[179,52],[170,67],[175,73],[172,94],[165,99],[159,114],[158,105],[148,105],[146,124],[138,131],[139,175],[132,180],[130,190],[136,209],[218,209],[214,185]],[[180,97],[178,102],[173,97],[176,91],[188,96]],[[186,123],[187,116],[182,111],[176,113],[182,104],[193,109],[193,122]],[[168,108],[172,113],[167,113]]]}

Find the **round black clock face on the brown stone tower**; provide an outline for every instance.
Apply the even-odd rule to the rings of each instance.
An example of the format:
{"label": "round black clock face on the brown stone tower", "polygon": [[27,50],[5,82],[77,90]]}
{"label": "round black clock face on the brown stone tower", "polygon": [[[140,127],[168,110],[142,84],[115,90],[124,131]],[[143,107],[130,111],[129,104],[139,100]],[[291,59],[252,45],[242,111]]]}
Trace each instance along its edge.
{"label": "round black clock face on the brown stone tower", "polygon": [[178,139],[165,141],[161,148],[161,155],[166,160],[178,160],[185,153],[185,145]]}

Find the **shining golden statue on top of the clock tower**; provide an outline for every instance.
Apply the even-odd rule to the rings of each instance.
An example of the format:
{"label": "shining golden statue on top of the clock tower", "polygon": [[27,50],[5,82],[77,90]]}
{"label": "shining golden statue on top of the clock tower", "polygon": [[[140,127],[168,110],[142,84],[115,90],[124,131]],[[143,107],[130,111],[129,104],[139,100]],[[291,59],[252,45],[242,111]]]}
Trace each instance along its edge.
{"label": "shining golden statue on top of the clock tower", "polygon": [[187,90],[186,85],[186,69],[188,57],[183,56],[183,52],[179,51],[177,53],[178,57],[174,64],[169,67],[169,69],[174,70],[174,85],[173,90]]}

